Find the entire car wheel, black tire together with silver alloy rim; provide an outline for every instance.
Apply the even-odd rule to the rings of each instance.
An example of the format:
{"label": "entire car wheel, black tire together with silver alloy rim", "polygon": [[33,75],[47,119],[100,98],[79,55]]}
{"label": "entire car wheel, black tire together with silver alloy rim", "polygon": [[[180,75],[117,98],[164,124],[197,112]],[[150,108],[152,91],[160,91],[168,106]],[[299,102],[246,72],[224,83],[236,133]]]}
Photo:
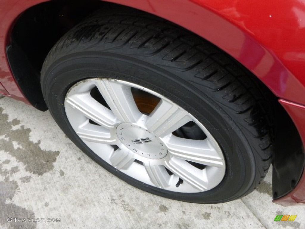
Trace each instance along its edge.
{"label": "entire car wheel, black tire together with silver alloy rim", "polygon": [[41,87],[66,135],[144,191],[226,202],[252,191],[269,168],[272,117],[257,82],[157,17],[96,13],[50,51]]}

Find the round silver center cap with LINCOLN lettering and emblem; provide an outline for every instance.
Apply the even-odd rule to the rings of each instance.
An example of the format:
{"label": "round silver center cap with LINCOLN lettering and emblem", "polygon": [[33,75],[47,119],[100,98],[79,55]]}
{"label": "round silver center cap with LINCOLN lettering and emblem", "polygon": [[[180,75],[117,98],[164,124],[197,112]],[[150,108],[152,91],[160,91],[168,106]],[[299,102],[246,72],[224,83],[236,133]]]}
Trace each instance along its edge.
{"label": "round silver center cap with LINCOLN lettering and emblem", "polygon": [[121,123],[117,137],[132,152],[149,159],[161,159],[167,154],[165,144],[154,133],[138,125]]}

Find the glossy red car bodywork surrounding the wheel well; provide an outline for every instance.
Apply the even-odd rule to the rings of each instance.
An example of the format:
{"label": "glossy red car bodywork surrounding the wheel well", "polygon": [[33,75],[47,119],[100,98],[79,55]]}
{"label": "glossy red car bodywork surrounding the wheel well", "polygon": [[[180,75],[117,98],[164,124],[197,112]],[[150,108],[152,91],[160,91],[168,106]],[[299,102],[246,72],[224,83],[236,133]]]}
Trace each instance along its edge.
{"label": "glossy red car bodywork surrounding the wheel well", "polygon": [[[8,64],[6,47],[18,17],[46,0],[0,0],[0,93],[28,103]],[[305,2],[243,0],[108,0],[160,16],[210,41],[256,75],[293,120],[305,146]],[[287,152],[289,153],[289,152]],[[305,173],[274,200],[305,203]]]}

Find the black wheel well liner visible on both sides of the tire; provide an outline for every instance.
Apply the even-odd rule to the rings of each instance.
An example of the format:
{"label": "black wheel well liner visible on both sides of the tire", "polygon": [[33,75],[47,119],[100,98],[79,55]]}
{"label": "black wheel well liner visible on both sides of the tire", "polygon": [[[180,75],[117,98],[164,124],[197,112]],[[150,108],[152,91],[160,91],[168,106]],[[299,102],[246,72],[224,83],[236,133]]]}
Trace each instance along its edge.
{"label": "black wheel well liner visible on both sides of the tire", "polygon": [[[119,5],[99,0],[50,1],[27,9],[16,20],[7,56],[16,81],[34,107],[47,110],[41,93],[40,71],[52,46],[86,16],[96,9],[108,6],[113,8]],[[253,81],[263,88],[266,98],[274,104],[271,109],[275,114],[273,193],[274,198],[279,198],[291,191],[302,175],[302,142],[295,125],[276,96],[254,76]]]}

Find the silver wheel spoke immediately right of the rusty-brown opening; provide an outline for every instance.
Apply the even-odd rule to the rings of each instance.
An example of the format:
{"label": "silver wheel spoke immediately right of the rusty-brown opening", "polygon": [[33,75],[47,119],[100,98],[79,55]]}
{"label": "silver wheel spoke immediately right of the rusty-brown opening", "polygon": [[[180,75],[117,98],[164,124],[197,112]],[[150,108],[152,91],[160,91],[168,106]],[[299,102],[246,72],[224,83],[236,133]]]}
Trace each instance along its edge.
{"label": "silver wheel spoke immediately right of the rusty-brown opening", "polygon": [[178,105],[161,100],[157,107],[149,115],[146,127],[154,132],[156,136],[166,136],[187,122],[192,121],[188,112],[181,109]]}

